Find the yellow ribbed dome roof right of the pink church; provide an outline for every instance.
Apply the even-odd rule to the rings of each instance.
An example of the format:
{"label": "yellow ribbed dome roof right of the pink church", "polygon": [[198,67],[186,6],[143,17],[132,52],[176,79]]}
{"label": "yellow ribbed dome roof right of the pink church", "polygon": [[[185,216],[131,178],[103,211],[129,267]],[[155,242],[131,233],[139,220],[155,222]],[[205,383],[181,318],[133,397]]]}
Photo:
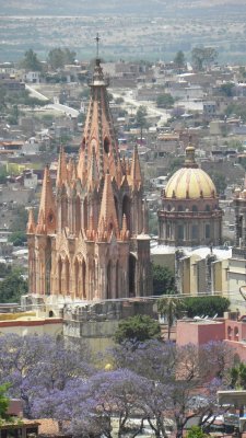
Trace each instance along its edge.
{"label": "yellow ribbed dome roof right of the pink church", "polygon": [[181,168],[169,178],[165,196],[167,198],[212,198],[216,196],[211,177],[198,168]]}

